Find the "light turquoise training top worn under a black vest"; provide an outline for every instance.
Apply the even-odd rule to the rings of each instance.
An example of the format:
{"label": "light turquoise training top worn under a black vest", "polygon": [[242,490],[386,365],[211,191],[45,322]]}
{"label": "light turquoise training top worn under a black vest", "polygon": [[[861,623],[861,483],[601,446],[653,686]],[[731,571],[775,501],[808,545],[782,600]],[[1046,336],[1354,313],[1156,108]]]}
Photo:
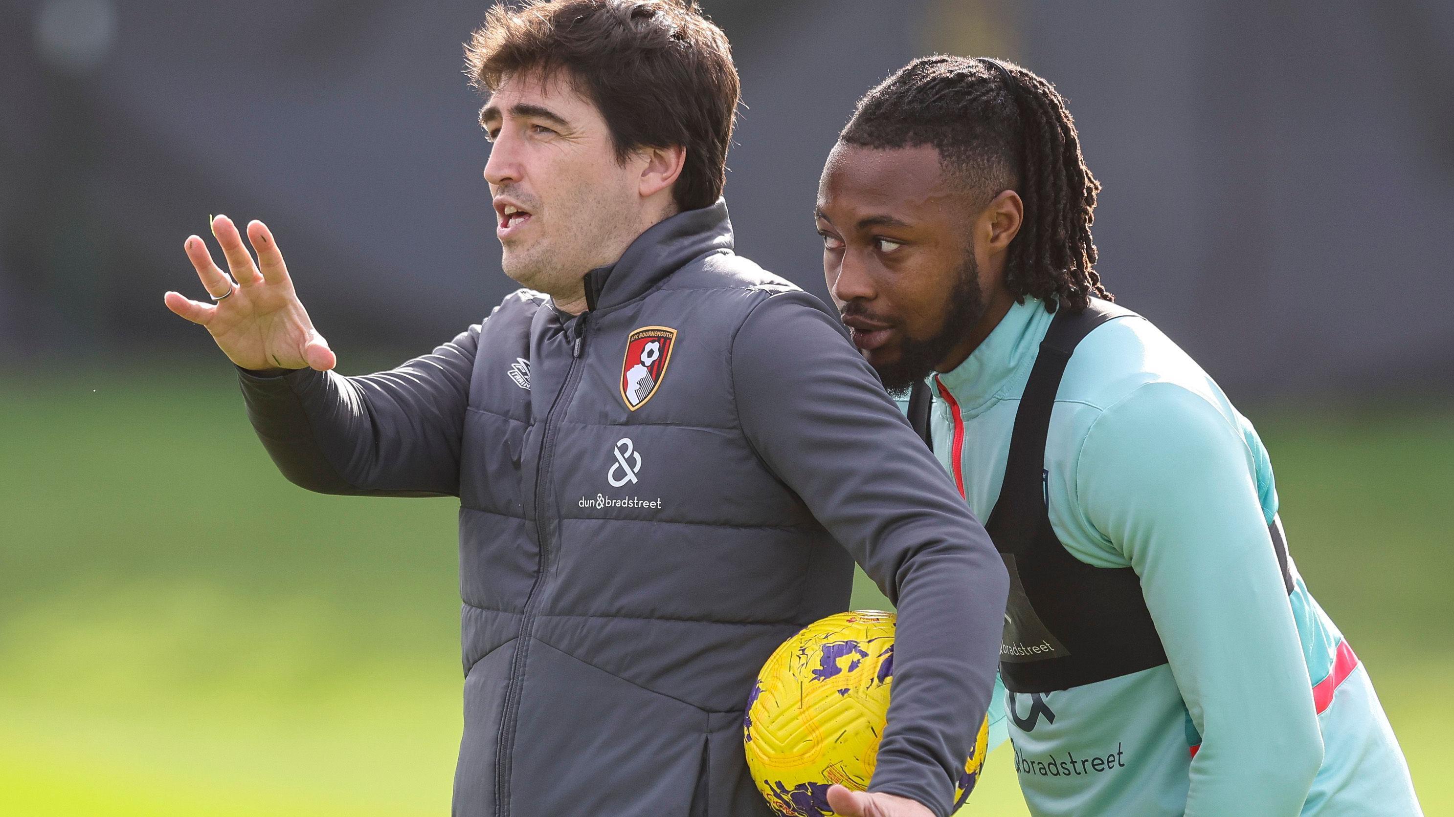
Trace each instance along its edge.
{"label": "light turquoise training top worn under a black vest", "polygon": [[[929,379],[935,455],[980,519],[1051,317],[1012,307]],[[1083,563],[1136,570],[1168,663],[1041,701],[997,688],[992,746],[1013,743],[1032,814],[1421,814],[1367,670],[1296,567],[1291,595],[1282,583],[1266,449],[1195,361],[1141,317],[1093,330],[1045,470],[1056,535]]]}

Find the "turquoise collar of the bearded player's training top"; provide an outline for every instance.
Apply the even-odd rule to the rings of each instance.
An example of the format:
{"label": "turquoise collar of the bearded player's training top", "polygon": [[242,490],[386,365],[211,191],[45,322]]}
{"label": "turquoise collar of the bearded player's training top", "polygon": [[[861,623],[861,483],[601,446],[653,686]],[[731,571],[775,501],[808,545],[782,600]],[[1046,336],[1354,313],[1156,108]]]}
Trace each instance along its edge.
{"label": "turquoise collar of the bearded player's training top", "polygon": [[929,387],[936,395],[941,385],[949,390],[964,416],[977,414],[1006,397],[1018,397],[1051,318],[1054,315],[1038,298],[1012,304],[989,337],[954,369],[931,375]]}

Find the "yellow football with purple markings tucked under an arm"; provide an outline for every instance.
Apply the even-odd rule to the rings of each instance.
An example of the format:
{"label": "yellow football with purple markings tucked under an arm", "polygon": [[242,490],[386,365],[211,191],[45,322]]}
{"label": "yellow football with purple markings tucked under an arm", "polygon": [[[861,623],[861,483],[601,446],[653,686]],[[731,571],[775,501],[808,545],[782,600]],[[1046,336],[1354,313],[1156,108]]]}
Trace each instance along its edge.
{"label": "yellow football with purple markings tucked under an arm", "polygon": [[[853,611],[810,624],[768,663],[747,701],[747,768],[782,817],[833,814],[827,788],[855,791],[874,776],[894,680],[894,613]],[[958,808],[984,760],[989,721],[955,794]],[[973,728],[968,727],[967,728]]]}

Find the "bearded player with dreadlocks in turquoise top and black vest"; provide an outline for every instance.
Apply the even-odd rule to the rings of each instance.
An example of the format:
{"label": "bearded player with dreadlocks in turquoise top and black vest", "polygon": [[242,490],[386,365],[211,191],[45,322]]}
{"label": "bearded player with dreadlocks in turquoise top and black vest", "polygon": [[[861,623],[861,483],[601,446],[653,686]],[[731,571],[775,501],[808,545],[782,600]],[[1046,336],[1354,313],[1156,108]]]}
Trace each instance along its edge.
{"label": "bearded player with dreadlocks in turquoise top and black vest", "polygon": [[819,188],[843,321],[1011,573],[992,743],[1034,814],[1418,814],[1256,432],[1092,269],[1098,190],[1050,83],[958,57],[868,92]]}

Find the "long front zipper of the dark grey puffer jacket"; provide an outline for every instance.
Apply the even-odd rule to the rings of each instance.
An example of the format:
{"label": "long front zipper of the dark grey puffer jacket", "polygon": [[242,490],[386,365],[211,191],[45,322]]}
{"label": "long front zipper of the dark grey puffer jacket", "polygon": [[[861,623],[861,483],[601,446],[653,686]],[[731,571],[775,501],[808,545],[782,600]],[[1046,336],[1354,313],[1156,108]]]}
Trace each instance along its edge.
{"label": "long front zipper of the dark grey puffer jacket", "polygon": [[555,400],[550,404],[550,410],[545,411],[545,429],[541,432],[541,454],[539,467],[535,471],[535,539],[539,542],[541,555],[539,566],[537,567],[535,581],[531,583],[531,592],[525,596],[525,612],[521,615],[521,631],[515,637],[515,657],[510,661],[510,677],[505,686],[505,707],[500,712],[500,734],[494,747],[494,814],[496,817],[509,816],[509,781],[510,769],[513,768],[512,753],[515,752],[515,728],[518,724],[518,709],[521,705],[521,685],[523,683],[522,673],[525,670],[525,659],[529,653],[529,640],[535,628],[535,612],[539,606],[539,587],[545,580],[545,573],[550,570],[550,542],[545,536],[545,510],[542,506],[542,493],[545,486],[550,484],[551,461],[555,443],[555,426],[551,420],[555,417],[555,408],[560,406],[569,406],[570,398],[576,394],[576,385],[580,381],[577,366],[580,358],[586,352],[586,320],[590,313],[580,317],[580,334],[570,347],[570,368],[566,369],[566,384],[561,385],[560,393],[555,394]]}

